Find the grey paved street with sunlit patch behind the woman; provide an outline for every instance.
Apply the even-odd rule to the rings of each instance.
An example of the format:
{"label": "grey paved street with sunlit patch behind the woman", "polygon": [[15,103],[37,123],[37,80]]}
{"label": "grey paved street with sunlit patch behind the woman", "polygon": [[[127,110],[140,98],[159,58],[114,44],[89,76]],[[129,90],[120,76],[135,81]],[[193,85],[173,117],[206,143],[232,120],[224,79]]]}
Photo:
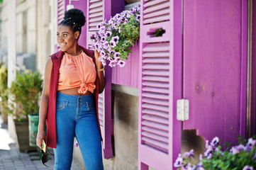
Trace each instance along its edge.
{"label": "grey paved street with sunlit patch behind the woman", "polygon": [[[53,151],[52,151],[53,153]],[[48,166],[54,166],[54,157],[48,161]],[[43,166],[37,152],[19,152],[13,140],[9,137],[7,125],[3,123],[0,115],[0,170],[37,170],[53,169]],[[72,163],[72,170],[81,170],[77,164]]]}

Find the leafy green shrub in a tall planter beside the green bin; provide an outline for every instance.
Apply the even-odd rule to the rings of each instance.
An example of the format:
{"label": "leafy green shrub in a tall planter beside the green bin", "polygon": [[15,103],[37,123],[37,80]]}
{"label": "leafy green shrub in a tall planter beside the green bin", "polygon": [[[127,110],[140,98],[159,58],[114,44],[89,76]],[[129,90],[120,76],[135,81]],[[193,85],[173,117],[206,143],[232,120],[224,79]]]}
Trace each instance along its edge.
{"label": "leafy green shrub in a tall planter beside the green bin", "polygon": [[[38,113],[38,99],[43,90],[43,79],[39,72],[22,72],[16,74],[16,79],[11,83],[10,110],[16,126],[18,145],[21,151],[28,152],[28,115]],[[35,149],[33,147],[33,149]]]}

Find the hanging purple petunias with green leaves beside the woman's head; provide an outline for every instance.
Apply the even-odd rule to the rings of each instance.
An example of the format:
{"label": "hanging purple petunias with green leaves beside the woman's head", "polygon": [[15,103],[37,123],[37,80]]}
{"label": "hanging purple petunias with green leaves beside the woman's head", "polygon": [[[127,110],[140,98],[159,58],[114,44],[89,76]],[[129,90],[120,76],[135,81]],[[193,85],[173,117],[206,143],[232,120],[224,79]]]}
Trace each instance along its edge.
{"label": "hanging purple petunias with green leaves beside the woman's head", "polygon": [[99,60],[103,65],[109,61],[110,67],[124,67],[124,59],[128,60],[127,56],[133,52],[130,47],[140,37],[140,6],[116,14],[97,28],[99,31],[91,39],[94,49],[101,54]]}

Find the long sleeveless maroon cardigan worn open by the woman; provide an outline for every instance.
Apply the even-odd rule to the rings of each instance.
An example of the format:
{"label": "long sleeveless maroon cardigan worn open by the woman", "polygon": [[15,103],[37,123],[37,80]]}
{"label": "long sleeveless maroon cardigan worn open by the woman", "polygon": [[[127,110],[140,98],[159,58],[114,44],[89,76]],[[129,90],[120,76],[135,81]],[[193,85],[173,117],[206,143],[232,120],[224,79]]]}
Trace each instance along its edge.
{"label": "long sleeveless maroon cardigan worn open by the woman", "polygon": [[[95,64],[95,57],[93,50],[87,50],[82,47],[82,50],[92,58]],[[56,148],[56,94],[57,94],[57,85],[59,79],[59,69],[62,61],[64,52],[59,51],[51,55],[52,59],[52,72],[50,76],[50,94],[49,94],[49,105],[48,113],[46,117],[46,126],[47,126],[47,135],[46,135],[46,146]],[[96,66],[95,66],[96,67]],[[101,128],[99,125],[99,113],[98,113],[98,98],[99,98],[99,77],[96,75],[96,89],[94,89],[94,99],[96,103],[96,113],[99,126],[99,132],[101,134]],[[101,137],[102,140],[102,137]]]}

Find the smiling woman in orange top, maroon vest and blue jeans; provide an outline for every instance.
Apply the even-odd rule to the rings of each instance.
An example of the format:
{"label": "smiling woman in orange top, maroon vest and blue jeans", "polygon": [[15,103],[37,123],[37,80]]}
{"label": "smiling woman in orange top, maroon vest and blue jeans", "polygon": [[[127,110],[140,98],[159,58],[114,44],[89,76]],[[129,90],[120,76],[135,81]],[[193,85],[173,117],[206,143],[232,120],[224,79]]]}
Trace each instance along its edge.
{"label": "smiling woman in orange top, maroon vest and blue jeans", "polygon": [[42,149],[46,140],[55,148],[55,169],[70,169],[74,136],[87,170],[103,169],[97,98],[105,86],[104,67],[99,52],[77,43],[84,23],[79,9],[65,12],[57,29],[60,52],[51,55],[45,66],[37,145]]}

